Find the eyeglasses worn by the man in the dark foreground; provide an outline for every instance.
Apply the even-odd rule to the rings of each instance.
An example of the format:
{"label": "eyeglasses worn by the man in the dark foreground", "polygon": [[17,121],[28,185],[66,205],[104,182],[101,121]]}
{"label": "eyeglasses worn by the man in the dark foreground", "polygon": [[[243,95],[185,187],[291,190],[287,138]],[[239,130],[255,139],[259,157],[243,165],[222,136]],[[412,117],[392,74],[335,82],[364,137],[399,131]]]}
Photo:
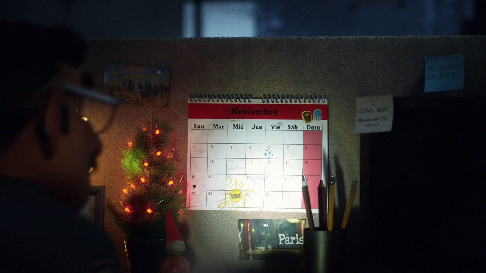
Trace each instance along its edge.
{"label": "eyeglasses worn by the man in the dark foreground", "polygon": [[63,83],[61,89],[79,98],[76,110],[93,127],[95,134],[108,129],[115,118],[119,101],[95,90]]}

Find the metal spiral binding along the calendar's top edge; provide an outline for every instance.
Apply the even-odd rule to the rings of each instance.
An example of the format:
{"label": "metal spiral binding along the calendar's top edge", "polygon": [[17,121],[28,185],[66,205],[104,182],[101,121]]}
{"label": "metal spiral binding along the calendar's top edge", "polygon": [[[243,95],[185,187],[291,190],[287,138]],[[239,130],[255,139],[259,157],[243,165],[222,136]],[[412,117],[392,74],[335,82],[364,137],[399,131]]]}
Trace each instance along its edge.
{"label": "metal spiral binding along the calendar's top edge", "polygon": [[328,97],[326,95],[280,95],[263,94],[261,98],[253,98],[249,94],[193,94],[189,96],[190,102],[251,102],[251,100],[261,100],[261,102],[290,102],[290,103],[324,103]]}

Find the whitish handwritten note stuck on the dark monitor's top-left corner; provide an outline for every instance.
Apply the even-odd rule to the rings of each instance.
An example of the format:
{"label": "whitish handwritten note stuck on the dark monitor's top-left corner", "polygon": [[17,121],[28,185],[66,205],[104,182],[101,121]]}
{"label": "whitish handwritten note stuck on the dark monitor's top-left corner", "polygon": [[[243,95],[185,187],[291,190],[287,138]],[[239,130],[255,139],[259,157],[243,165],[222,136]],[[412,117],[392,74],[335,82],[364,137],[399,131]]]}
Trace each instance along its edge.
{"label": "whitish handwritten note stuck on the dark monitor's top-left corner", "polygon": [[356,98],[354,133],[390,132],[393,124],[393,96]]}

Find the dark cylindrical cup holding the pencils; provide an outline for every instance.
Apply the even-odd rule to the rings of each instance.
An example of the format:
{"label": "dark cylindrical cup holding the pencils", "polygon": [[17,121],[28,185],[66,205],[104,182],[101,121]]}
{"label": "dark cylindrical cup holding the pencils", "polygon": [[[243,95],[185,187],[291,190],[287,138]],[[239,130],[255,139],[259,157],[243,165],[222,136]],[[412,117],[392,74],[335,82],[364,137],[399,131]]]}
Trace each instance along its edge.
{"label": "dark cylindrical cup holding the pencils", "polygon": [[304,229],[304,267],[308,273],[344,271],[346,230]]}

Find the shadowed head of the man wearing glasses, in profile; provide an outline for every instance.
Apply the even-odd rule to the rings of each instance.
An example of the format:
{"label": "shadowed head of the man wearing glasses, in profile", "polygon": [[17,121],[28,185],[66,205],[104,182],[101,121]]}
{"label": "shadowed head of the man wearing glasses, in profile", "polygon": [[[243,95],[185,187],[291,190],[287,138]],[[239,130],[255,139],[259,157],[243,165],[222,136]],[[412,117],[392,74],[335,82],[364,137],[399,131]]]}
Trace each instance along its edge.
{"label": "shadowed head of the man wearing glasses, in profile", "polygon": [[0,175],[26,179],[78,208],[101,143],[79,114],[87,46],[60,28],[0,21]]}

